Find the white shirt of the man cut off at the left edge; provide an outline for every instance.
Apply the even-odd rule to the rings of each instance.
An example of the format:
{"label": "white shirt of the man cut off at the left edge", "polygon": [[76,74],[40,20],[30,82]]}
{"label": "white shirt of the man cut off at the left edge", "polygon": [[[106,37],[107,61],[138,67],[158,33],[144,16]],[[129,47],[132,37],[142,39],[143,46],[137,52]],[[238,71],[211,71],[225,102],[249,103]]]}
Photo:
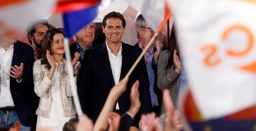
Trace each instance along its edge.
{"label": "white shirt of the man cut off at the left edge", "polygon": [[10,67],[12,64],[13,55],[13,45],[5,51],[3,47],[0,46],[0,108],[13,106],[14,102],[12,100],[12,94],[10,93]]}

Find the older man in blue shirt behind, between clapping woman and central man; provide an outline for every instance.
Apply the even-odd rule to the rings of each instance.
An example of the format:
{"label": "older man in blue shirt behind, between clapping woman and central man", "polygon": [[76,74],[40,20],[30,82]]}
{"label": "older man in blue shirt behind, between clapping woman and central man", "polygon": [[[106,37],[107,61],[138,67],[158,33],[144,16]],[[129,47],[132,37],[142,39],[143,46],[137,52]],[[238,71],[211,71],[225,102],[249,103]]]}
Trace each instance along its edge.
{"label": "older man in blue shirt behind, between clapping woman and central man", "polygon": [[93,43],[94,35],[95,32],[93,23],[86,25],[83,29],[76,33],[76,41],[69,47],[71,57],[74,58],[74,53],[79,52],[81,55],[79,61],[81,62],[85,55],[85,50],[92,49],[93,47],[99,45],[95,42]]}

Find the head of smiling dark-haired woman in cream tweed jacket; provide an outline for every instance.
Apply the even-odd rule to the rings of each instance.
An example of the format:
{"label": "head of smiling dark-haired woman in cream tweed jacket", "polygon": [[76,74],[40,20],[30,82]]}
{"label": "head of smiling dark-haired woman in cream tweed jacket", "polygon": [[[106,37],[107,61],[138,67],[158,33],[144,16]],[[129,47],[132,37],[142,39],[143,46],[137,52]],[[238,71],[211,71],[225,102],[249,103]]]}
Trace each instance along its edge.
{"label": "head of smiling dark-haired woman in cream tweed jacket", "polygon": [[50,55],[63,55],[65,53],[65,47],[64,47],[64,35],[63,33],[58,29],[50,29],[48,30],[42,41],[42,60],[41,64],[47,64],[47,69],[50,69],[50,64],[48,63],[48,60],[46,58],[46,52],[47,50],[50,51]]}

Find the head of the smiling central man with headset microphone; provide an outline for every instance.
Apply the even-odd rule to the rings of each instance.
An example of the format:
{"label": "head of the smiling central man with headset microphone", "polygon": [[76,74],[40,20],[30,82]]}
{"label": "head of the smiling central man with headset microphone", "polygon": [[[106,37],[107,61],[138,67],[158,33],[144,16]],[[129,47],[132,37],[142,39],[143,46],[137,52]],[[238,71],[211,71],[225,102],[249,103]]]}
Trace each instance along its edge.
{"label": "head of the smiling central man with headset microphone", "polygon": [[102,30],[105,33],[107,43],[121,43],[125,33],[125,18],[119,12],[110,12],[103,18]]}

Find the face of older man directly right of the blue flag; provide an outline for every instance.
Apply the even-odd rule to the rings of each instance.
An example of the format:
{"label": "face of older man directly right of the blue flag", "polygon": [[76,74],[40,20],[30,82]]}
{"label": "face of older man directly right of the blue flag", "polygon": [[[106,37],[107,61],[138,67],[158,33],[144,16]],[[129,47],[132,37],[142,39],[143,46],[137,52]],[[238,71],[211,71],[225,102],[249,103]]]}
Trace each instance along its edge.
{"label": "face of older man directly right of the blue flag", "polygon": [[94,39],[94,25],[93,23],[90,23],[86,25],[83,29],[81,29],[78,33],[75,35],[76,42],[78,44],[86,43],[86,44],[92,44]]}

